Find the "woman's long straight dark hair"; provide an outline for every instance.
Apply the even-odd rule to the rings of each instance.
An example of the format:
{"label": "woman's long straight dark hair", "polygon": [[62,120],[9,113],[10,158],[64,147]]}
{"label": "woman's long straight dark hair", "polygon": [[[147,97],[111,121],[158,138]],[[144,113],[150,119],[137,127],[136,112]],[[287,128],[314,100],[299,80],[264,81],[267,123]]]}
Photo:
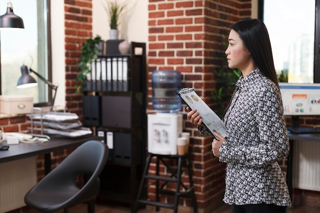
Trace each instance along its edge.
{"label": "woman's long straight dark hair", "polygon": [[[250,52],[252,60],[261,74],[274,82],[279,88],[270,38],[264,23],[259,19],[244,19],[234,23],[230,28],[239,34],[243,45]],[[231,101],[226,107],[223,117],[230,107]]]}

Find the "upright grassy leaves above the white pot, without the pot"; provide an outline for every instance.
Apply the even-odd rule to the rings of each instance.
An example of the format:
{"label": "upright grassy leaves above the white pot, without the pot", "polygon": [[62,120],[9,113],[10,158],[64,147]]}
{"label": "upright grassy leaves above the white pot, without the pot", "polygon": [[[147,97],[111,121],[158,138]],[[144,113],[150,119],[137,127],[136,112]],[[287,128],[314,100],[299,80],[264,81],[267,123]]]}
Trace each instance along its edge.
{"label": "upright grassy leaves above the white pot, without the pot", "polygon": [[117,30],[119,25],[119,18],[125,8],[125,4],[120,4],[118,0],[107,0],[107,4],[108,7],[105,7],[105,10],[108,13],[110,29]]}

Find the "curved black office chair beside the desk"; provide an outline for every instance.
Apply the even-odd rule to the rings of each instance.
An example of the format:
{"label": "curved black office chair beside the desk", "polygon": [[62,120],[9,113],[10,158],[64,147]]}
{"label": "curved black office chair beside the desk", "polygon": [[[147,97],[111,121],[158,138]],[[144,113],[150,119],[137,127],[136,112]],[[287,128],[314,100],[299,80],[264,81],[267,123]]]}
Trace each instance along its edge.
{"label": "curved black office chair beside the desk", "polygon": [[[43,213],[64,209],[80,203],[88,204],[94,213],[94,199],[99,192],[99,175],[109,154],[108,147],[98,140],[89,140],[68,155],[54,170],[25,195],[25,203]],[[86,177],[82,188],[76,186],[79,175]]]}

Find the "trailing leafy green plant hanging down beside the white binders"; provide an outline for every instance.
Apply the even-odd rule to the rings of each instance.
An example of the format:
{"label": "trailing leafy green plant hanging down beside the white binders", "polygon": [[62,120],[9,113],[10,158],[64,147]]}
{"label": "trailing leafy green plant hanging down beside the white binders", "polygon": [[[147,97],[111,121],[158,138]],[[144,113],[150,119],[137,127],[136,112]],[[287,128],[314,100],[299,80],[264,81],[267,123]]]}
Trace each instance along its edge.
{"label": "trailing leafy green plant hanging down beside the white binders", "polygon": [[81,60],[78,62],[79,75],[76,78],[76,81],[80,82],[80,84],[76,85],[76,92],[81,92],[80,88],[83,87],[83,81],[87,79],[87,74],[91,72],[91,60],[98,58],[96,52],[100,51],[98,44],[102,41],[99,35],[95,38],[90,37],[84,41],[81,48]]}

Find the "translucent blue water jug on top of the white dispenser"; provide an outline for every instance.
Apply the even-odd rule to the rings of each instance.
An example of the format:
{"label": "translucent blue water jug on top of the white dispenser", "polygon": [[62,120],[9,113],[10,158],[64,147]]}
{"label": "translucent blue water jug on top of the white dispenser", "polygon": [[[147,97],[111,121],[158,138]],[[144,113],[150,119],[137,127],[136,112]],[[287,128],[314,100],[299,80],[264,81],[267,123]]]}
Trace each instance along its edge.
{"label": "translucent blue water jug on top of the white dispenser", "polygon": [[181,88],[181,74],[177,70],[155,70],[152,73],[152,107],[157,112],[174,113],[181,108],[176,90]]}

